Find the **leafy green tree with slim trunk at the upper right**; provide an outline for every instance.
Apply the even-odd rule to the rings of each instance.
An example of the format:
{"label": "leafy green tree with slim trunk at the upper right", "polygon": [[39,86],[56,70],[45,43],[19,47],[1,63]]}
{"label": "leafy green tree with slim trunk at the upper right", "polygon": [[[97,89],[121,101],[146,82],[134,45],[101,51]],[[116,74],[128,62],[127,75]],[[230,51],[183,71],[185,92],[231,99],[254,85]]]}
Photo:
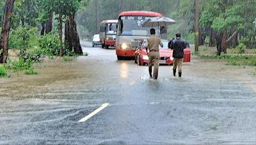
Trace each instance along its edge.
{"label": "leafy green tree with slim trunk at the upper right", "polygon": [[237,31],[243,29],[242,14],[242,1],[232,0],[209,1],[202,11],[200,24],[213,29],[216,33],[218,55],[227,52],[227,43],[232,38],[237,38]]}

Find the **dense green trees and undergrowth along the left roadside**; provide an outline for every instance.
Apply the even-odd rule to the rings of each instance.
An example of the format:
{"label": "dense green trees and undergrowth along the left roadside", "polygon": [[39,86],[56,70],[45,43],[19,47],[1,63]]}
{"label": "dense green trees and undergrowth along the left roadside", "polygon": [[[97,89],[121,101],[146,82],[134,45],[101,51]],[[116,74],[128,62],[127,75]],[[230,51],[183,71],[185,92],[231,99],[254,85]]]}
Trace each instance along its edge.
{"label": "dense green trees and undergrowth along the left roadside", "polygon": [[[54,2],[54,3],[52,3]],[[77,36],[74,16],[81,1],[49,0],[8,0],[0,2],[0,76],[22,71],[24,74],[38,74],[36,64],[49,59],[60,58],[72,61],[83,54]],[[61,3],[61,5],[60,5]],[[84,1],[83,4],[86,4]],[[13,12],[11,12],[13,11]],[[12,13],[12,21],[4,15]],[[10,23],[10,25],[6,25]],[[62,25],[65,24],[65,38],[62,38]],[[4,38],[8,38],[8,46]],[[76,38],[76,39],[74,39]],[[8,53],[2,53],[7,50]]]}

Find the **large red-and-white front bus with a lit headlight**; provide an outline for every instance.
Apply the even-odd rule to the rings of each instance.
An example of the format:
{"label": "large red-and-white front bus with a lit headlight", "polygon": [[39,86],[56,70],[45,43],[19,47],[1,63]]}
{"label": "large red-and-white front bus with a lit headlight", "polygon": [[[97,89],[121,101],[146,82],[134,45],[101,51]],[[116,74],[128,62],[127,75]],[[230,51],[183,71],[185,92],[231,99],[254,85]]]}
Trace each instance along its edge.
{"label": "large red-and-white front bus with a lit headlight", "polygon": [[[141,22],[150,17],[163,17],[161,13],[152,11],[122,11],[118,15],[118,29],[116,34],[117,59],[134,58],[134,52],[141,40],[150,36],[151,27],[142,27]],[[159,28],[156,35],[159,35]]]}

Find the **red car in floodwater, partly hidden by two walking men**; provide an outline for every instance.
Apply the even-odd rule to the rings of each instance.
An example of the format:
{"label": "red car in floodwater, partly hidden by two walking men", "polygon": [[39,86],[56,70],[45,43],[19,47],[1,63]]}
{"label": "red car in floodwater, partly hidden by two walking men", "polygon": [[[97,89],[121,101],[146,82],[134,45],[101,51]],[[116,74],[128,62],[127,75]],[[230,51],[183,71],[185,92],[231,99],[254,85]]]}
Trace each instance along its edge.
{"label": "red car in floodwater, partly hidden by two walking men", "polygon": [[[168,48],[167,40],[162,40],[162,43],[164,45],[163,48],[159,46],[159,53],[160,53],[159,64],[171,65],[173,64],[173,61],[172,61],[173,50]],[[135,55],[135,63],[138,64],[139,66],[145,66],[148,64],[146,40],[141,41],[140,48],[136,50],[134,55]],[[184,49],[184,62],[190,62],[190,55],[191,55],[190,49],[189,48]]]}

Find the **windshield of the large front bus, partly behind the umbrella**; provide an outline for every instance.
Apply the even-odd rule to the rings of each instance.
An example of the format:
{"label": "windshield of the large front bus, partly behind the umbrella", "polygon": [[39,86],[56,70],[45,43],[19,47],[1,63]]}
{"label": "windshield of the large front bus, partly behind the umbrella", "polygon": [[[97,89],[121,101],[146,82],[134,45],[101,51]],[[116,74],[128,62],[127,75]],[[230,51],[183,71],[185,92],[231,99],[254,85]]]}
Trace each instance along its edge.
{"label": "windshield of the large front bus, partly behind the umbrella", "polygon": [[[125,36],[150,36],[150,29],[152,27],[142,27],[141,23],[150,17],[143,16],[123,16],[118,20],[119,35]],[[159,35],[158,28],[156,29],[156,35]]]}

